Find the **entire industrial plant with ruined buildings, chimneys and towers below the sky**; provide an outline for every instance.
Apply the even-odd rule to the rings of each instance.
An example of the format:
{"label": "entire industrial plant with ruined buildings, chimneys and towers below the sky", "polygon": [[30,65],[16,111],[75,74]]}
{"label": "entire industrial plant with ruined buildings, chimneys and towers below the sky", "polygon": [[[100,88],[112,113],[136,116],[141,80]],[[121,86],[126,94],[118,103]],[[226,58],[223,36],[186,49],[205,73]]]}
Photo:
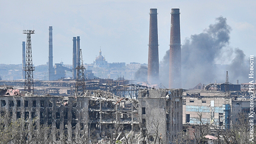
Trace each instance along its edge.
{"label": "entire industrial plant with ruined buildings, chimneys and towers below the sky", "polygon": [[[73,37],[72,65],[54,64],[49,26],[48,62],[35,67],[35,30],[23,30],[27,41],[19,70],[0,69],[0,143],[240,144],[249,139],[242,135],[249,128],[250,107],[256,105],[250,94],[256,84],[231,84],[225,71],[225,83],[182,88],[178,8],[171,9],[169,87],[161,84],[157,14],[150,9],[148,64],[108,63],[101,48],[93,63],[84,63],[88,53],[82,54],[80,36]],[[147,67],[146,81],[134,79],[142,66]],[[256,118],[251,121],[255,125]]]}

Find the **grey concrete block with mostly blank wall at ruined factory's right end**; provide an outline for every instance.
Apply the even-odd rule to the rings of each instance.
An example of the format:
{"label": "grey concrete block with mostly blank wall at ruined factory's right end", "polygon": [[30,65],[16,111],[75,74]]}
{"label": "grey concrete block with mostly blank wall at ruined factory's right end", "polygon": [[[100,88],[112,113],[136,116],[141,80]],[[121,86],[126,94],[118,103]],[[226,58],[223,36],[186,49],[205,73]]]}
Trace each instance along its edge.
{"label": "grey concrete block with mostly blank wall at ruined factory's right end", "polygon": [[182,131],[182,89],[143,90],[138,100],[142,131],[148,135],[141,140],[169,143],[177,139]]}

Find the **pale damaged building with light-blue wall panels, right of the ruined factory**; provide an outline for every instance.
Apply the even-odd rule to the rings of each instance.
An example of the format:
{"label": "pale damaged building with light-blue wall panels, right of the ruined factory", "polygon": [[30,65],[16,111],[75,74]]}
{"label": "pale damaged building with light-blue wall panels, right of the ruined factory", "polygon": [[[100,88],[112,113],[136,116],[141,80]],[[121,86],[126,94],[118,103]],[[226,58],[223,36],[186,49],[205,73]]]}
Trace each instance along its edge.
{"label": "pale damaged building with light-blue wall panels, right of the ruined factory", "polygon": [[[248,89],[241,91],[239,86],[229,84],[226,86],[233,91],[226,91],[224,85],[208,84],[204,89],[183,92],[183,135],[188,140],[194,141],[195,135],[199,137],[200,131],[197,125],[214,125],[209,132],[215,135],[216,129],[230,130],[235,125],[239,125],[243,114],[248,116],[250,112]],[[256,105],[255,96],[254,105]],[[254,118],[255,124],[256,118]]]}

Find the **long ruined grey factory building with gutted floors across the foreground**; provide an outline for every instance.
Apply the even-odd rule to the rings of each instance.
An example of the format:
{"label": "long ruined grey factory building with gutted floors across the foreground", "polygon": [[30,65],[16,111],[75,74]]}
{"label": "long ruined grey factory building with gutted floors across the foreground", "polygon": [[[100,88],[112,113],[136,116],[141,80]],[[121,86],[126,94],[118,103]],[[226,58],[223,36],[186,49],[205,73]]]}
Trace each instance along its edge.
{"label": "long ruined grey factory building with gutted floors across the foreground", "polygon": [[[182,130],[182,89],[141,89],[138,99],[104,91],[80,97],[30,95],[1,87],[0,114],[10,121],[33,123],[32,132],[47,126],[51,142],[168,143]],[[5,117],[4,117],[5,116]],[[5,127],[1,127],[5,128]],[[49,133],[49,132],[48,132]],[[26,141],[32,140],[28,132]],[[12,141],[14,142],[14,140]]]}

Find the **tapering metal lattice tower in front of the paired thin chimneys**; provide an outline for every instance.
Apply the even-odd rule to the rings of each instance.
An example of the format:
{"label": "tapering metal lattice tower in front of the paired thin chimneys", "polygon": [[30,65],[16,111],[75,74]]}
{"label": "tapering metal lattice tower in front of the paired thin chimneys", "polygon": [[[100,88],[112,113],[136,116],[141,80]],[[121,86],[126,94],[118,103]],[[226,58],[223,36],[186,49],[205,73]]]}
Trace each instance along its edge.
{"label": "tapering metal lattice tower in front of the paired thin chimneys", "polygon": [[83,95],[83,93],[85,92],[85,67],[83,65],[82,49],[80,49],[78,66],[75,69],[77,69],[75,81],[75,96]]}

